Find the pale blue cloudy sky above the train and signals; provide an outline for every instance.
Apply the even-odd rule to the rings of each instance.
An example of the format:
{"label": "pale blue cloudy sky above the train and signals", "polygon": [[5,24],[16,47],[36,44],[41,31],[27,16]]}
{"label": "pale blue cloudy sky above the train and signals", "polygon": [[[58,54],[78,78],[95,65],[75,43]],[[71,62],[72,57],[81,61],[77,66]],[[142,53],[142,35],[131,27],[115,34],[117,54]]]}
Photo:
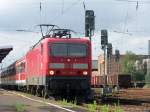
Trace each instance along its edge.
{"label": "pale blue cloudy sky above the train and signals", "polygon": [[[55,24],[74,30],[77,36],[84,36],[83,2],[86,9],[95,12],[93,59],[102,53],[102,29],[108,30],[113,51],[148,53],[150,0],[138,0],[138,5],[132,0],[0,0],[0,46],[13,46],[13,51],[3,60],[3,66],[25,55],[41,38],[37,33],[38,24]],[[16,31],[20,29],[34,32]]]}

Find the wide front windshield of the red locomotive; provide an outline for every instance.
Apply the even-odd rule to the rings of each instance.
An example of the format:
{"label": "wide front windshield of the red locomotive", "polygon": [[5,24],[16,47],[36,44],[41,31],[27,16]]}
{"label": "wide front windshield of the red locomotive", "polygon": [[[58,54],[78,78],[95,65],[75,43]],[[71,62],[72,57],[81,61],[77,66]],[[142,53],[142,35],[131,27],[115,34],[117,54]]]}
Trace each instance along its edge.
{"label": "wide front windshield of the red locomotive", "polygon": [[53,43],[51,45],[52,56],[87,56],[87,45],[80,43]]}

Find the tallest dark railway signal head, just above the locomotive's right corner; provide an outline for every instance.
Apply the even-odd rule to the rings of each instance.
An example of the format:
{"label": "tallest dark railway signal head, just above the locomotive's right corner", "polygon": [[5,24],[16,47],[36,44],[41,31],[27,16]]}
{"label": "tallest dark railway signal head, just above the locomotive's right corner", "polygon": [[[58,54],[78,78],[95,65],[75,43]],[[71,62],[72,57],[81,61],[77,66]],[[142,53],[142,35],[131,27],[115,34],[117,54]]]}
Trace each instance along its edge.
{"label": "tallest dark railway signal head, just above the locomotive's right corner", "polygon": [[85,11],[85,37],[89,37],[91,40],[91,36],[94,34],[95,30],[95,16],[93,10]]}

